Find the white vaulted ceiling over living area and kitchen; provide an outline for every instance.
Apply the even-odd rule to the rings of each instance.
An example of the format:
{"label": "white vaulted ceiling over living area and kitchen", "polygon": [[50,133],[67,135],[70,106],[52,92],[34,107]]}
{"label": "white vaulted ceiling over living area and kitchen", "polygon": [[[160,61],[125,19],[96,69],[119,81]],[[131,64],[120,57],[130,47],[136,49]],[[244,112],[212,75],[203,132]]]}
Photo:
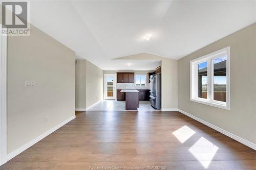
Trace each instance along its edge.
{"label": "white vaulted ceiling over living area and kitchen", "polygon": [[256,1],[31,1],[33,25],[104,70],[124,70],[111,59],[138,53],[180,59],[255,21]]}

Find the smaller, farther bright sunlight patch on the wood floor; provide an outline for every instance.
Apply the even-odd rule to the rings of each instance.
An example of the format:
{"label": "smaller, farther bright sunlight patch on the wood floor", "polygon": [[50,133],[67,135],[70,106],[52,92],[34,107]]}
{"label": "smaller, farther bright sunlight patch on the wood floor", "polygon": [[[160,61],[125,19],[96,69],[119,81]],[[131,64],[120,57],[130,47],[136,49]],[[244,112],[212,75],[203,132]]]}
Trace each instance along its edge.
{"label": "smaller, farther bright sunlight patch on the wood floor", "polygon": [[184,143],[188,138],[190,138],[192,135],[194,135],[196,132],[186,125],[178,129],[177,131],[173,132],[174,136],[177,137],[177,139]]}

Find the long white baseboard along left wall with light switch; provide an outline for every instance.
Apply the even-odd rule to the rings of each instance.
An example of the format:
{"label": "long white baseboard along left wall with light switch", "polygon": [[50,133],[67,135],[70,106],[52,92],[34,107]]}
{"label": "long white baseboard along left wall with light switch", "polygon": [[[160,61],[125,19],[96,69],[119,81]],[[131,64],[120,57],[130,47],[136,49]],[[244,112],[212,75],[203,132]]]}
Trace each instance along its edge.
{"label": "long white baseboard along left wall with light switch", "polygon": [[22,153],[23,151],[25,151],[26,149],[28,149],[29,147],[31,147],[33,144],[35,144],[36,142],[40,141],[41,139],[45,138],[46,136],[50,135],[52,132],[56,131],[57,129],[59,129],[60,127],[62,127],[63,125],[69,123],[71,120],[73,120],[74,118],[76,118],[75,115],[73,115],[72,117],[68,118],[67,120],[65,120],[64,122],[60,123],[59,125],[55,126],[54,128],[50,129],[49,131],[41,134],[40,136],[34,138],[33,140],[29,141],[28,143],[24,144],[22,147],[16,149],[15,151],[11,152],[10,154],[7,155],[7,158],[5,160],[5,162],[9,161],[10,159],[12,159],[13,157],[17,156],[18,154]]}

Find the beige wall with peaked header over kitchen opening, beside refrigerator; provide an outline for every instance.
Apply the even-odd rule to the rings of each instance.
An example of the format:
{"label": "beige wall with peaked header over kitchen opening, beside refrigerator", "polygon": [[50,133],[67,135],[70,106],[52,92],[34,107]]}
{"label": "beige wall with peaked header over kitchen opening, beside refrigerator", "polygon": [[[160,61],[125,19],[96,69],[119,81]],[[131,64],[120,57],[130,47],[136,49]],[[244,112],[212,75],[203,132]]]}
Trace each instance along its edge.
{"label": "beige wall with peaked header over kitchen opening, beside refrigerator", "polygon": [[161,60],[162,109],[178,108],[178,60],[148,53],[116,58],[119,60]]}

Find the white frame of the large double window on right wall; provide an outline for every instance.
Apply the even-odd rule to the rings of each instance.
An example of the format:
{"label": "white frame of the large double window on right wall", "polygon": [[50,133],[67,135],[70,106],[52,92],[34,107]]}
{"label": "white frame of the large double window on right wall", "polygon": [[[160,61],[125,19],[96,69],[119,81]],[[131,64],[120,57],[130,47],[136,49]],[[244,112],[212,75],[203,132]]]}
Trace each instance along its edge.
{"label": "white frame of the large double window on right wall", "polygon": [[[214,100],[214,64],[215,58],[227,56],[226,102]],[[198,64],[207,61],[207,99],[198,98]],[[190,101],[230,110],[230,47],[207,54],[190,61]]]}

